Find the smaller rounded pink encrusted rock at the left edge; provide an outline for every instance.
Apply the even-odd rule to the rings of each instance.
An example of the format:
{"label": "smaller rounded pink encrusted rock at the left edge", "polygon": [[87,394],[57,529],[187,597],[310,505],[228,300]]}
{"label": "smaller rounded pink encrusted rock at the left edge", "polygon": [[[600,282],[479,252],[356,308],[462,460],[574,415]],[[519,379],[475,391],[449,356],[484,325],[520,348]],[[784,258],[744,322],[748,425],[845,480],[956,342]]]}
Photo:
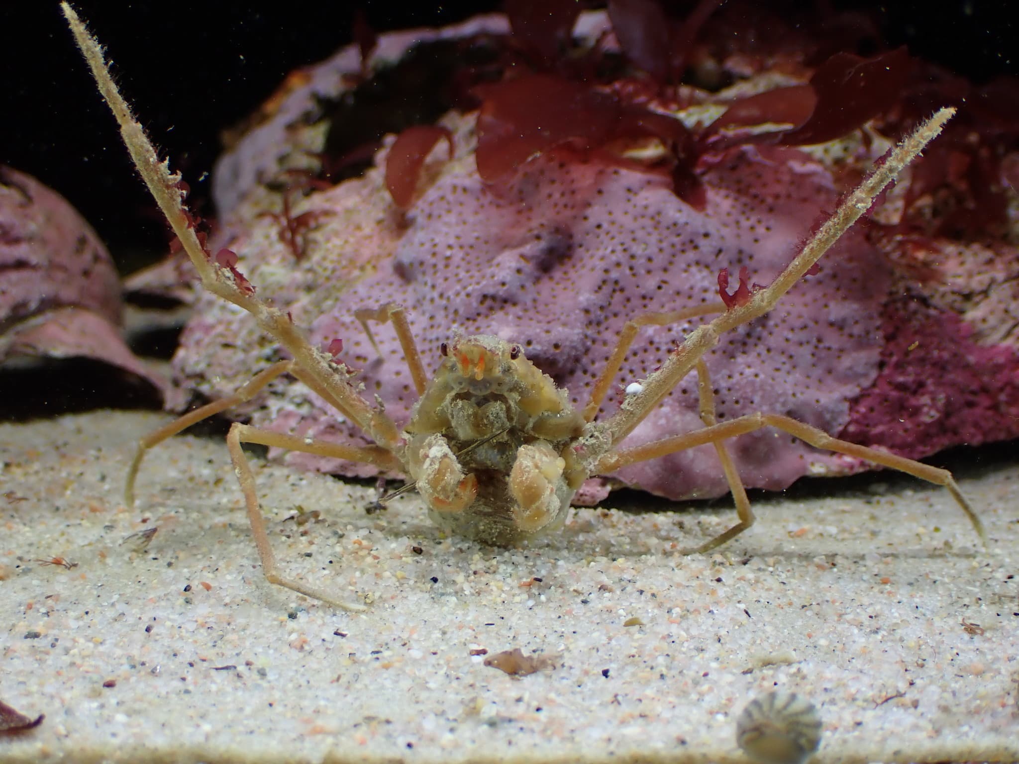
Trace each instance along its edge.
{"label": "smaller rounded pink encrusted rock at the left edge", "polygon": [[152,382],[179,404],[120,335],[120,281],[92,227],[30,175],[0,167],[0,362],[84,357]]}

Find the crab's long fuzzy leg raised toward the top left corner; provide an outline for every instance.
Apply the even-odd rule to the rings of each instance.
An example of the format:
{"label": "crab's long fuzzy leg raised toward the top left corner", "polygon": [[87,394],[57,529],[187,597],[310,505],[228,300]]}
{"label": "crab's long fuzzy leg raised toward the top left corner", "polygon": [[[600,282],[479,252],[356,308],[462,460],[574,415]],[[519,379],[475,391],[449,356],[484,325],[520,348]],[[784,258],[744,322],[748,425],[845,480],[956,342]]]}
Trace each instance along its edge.
{"label": "crab's long fuzzy leg raised toward the top left corner", "polygon": [[120,125],[120,135],[135,161],[135,166],[169,221],[184,252],[187,253],[202,279],[202,286],[252,314],[259,327],[275,337],[289,351],[298,365],[328,392],[325,396],[327,399],[336,403],[376,443],[387,447],[395,446],[399,440],[395,424],[383,412],[372,408],[368,401],[358,394],[348,381],[351,375],[343,373],[346,371],[345,368],[339,367],[337,371],[336,366],[325,353],[308,343],[286,313],[263,303],[255,296],[254,289],[250,286],[247,289],[243,288],[242,284],[227,275],[229,272],[226,269],[212,262],[198,240],[180,201],[181,193],[178,185],[180,176],[171,173],[167,163],[159,160],[145,130],[130,113],[130,108],[113,83],[99,43],[89,34],[70,5],[62,2],[60,7],[86,62],[92,69],[100,93]]}

